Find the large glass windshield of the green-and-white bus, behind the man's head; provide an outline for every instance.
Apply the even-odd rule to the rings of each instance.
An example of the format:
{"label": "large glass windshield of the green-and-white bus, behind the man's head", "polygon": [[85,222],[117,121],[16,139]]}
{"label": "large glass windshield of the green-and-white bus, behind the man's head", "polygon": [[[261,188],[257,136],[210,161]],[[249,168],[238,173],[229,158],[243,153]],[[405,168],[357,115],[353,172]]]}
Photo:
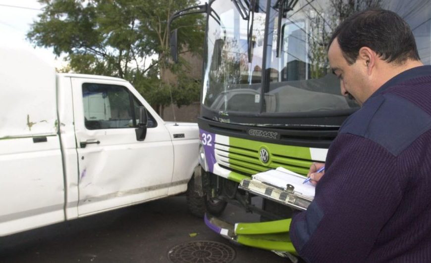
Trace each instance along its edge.
{"label": "large glass windshield of the green-and-white bus, behind the man's head", "polygon": [[[430,64],[429,1],[236,2],[246,6],[248,13],[235,1],[210,3],[213,15],[208,16],[202,105],[215,113],[306,113],[319,118],[352,113],[359,106],[340,94],[326,52],[340,21],[368,7],[390,9],[406,19],[422,61]],[[283,2],[293,6],[283,8]]]}

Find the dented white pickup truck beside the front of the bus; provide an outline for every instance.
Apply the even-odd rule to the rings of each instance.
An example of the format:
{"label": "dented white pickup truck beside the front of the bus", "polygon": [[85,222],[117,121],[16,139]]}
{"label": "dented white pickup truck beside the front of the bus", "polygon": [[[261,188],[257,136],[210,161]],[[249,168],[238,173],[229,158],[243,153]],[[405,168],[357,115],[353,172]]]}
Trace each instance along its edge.
{"label": "dented white pickup truck beside the front of the bus", "polygon": [[127,81],[0,61],[0,236],[185,192],[200,171],[197,124],[164,122]]}

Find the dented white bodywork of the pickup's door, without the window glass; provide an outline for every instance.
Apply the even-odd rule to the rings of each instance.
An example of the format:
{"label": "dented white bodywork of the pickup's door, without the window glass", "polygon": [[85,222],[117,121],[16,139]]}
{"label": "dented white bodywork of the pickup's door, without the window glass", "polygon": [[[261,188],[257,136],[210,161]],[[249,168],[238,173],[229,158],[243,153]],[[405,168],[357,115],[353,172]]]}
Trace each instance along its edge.
{"label": "dented white bodywork of the pickup's door, without the window glass", "polygon": [[[85,126],[83,85],[90,83],[99,84],[102,88],[105,87],[102,85],[115,85],[126,89],[131,87],[124,81],[75,77],[71,78],[71,83],[78,142],[78,215],[167,196],[173,172],[173,146],[169,132],[162,125],[163,121],[156,119],[160,125],[149,128],[143,141],[136,140],[133,127],[99,127],[89,130]],[[145,104],[147,109],[150,108],[144,101],[141,103]],[[156,115],[153,113],[152,116]],[[80,146],[81,142],[93,141],[100,143]]]}

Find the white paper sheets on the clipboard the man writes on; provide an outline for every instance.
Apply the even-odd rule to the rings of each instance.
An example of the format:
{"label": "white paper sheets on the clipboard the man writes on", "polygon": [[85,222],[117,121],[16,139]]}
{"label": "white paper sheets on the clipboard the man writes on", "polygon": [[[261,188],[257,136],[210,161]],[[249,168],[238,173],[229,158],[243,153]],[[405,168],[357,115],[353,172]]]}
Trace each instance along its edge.
{"label": "white paper sheets on the clipboard the man writes on", "polygon": [[315,195],[316,187],[311,182],[303,183],[306,177],[282,167],[278,167],[275,170],[268,170],[266,172],[253,175],[252,177],[261,182],[281,187],[284,190],[286,190],[287,184],[291,184],[295,187],[294,192],[297,194],[312,197]]}

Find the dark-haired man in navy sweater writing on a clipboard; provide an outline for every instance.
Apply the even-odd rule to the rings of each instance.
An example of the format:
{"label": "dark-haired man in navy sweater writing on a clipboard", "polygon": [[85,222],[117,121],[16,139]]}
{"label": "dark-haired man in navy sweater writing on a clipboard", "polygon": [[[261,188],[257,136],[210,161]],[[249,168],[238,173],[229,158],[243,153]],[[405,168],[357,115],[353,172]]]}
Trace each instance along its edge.
{"label": "dark-haired man in navy sweater writing on a clipboard", "polygon": [[292,219],[308,262],[431,262],[431,66],[397,14],[347,18],[328,48],[341,93],[362,106],[329,147],[316,196]]}

